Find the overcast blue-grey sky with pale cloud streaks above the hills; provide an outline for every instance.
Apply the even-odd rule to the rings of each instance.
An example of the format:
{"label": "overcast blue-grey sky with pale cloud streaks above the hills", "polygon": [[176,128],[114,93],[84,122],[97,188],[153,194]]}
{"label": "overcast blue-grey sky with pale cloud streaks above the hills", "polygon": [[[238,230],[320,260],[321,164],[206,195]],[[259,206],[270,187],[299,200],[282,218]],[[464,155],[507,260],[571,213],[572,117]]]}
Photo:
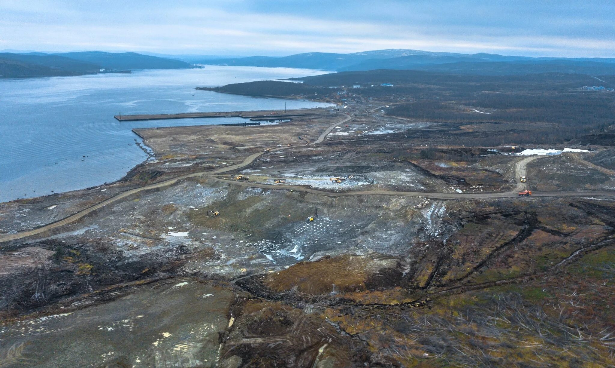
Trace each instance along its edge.
{"label": "overcast blue-grey sky with pale cloud streaks above the hills", "polygon": [[0,49],[615,57],[615,0],[0,0]]}

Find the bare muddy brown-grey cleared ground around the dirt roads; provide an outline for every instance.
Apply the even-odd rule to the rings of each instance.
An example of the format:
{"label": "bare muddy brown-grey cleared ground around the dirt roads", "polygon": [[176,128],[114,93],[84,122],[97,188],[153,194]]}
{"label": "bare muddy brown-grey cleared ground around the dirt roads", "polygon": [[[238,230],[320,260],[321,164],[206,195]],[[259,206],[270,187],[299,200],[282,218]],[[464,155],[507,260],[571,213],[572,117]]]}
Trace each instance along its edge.
{"label": "bare muddy brown-grey cleared ground around the dirt roads", "polygon": [[[369,112],[377,106],[351,106],[352,120],[319,145],[300,141],[342,116],[140,130],[155,159],[117,183],[1,204],[0,229],[36,228],[287,142],[219,176],[333,192],[517,186],[510,147],[454,145],[446,124]],[[601,152],[582,158],[600,165]],[[527,176],[534,191],[613,186],[567,154],[532,161]],[[613,197],[334,197],[213,178],[0,243],[0,366],[615,364]]]}

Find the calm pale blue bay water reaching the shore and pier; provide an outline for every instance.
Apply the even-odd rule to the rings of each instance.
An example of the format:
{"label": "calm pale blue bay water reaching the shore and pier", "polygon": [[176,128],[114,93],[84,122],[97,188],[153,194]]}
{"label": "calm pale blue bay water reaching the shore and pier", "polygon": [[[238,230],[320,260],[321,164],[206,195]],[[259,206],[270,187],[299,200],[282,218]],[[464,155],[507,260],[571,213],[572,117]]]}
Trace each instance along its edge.
{"label": "calm pale blue bay water reaching the shore and pier", "polygon": [[[239,118],[118,122],[118,113],[187,113],[328,106],[305,100],[195,90],[323,74],[292,68],[205,66],[132,74],[0,79],[0,202],[87,188],[121,178],[146,159],[137,127],[241,122]],[[85,156],[85,157],[84,157]]]}

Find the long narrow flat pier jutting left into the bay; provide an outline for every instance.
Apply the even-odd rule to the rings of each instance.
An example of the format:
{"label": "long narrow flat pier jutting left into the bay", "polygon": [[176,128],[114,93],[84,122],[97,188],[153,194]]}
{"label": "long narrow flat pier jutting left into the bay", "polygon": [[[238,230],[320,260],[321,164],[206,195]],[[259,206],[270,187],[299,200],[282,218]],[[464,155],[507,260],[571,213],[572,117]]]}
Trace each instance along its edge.
{"label": "long narrow flat pier jutting left into the bay", "polygon": [[272,110],[272,111],[218,111],[211,113],[179,113],[179,114],[143,114],[143,115],[115,115],[117,121],[139,121],[159,119],[194,119],[194,118],[243,118],[252,121],[282,120],[302,118],[322,114],[322,111],[306,110]]}

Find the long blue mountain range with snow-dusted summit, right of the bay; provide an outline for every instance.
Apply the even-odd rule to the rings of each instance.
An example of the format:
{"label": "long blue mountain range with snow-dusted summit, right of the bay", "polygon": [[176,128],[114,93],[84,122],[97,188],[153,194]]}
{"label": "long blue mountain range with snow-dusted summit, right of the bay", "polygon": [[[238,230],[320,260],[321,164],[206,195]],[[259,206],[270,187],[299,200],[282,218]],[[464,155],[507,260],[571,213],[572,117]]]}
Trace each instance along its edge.
{"label": "long blue mountain range with snow-dusted summit, right of the bay", "polygon": [[331,71],[426,70],[456,74],[615,74],[615,58],[523,57],[388,49],[352,54],[310,52],[286,57],[253,56],[196,60],[207,65],[277,66]]}

